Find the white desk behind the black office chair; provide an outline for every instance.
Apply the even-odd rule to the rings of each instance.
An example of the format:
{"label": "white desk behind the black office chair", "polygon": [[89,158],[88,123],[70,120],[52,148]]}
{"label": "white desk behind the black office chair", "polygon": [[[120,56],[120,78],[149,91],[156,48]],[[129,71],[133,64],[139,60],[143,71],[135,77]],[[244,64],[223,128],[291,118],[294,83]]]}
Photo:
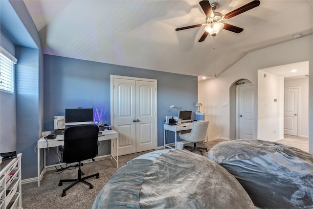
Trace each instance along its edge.
{"label": "white desk behind the black office chair", "polygon": [[[116,140],[116,158],[112,156],[112,152],[110,153],[111,159],[113,158],[116,161],[116,167],[118,167],[118,133],[114,130],[105,130],[102,131],[102,134],[98,137],[99,141],[104,140]],[[37,181],[38,181],[38,187],[40,186],[40,177],[42,175],[42,172],[40,171],[40,149],[45,149],[48,147],[58,147],[59,145],[64,145],[64,139],[63,138],[56,138],[56,139],[44,139],[41,138],[37,141]],[[61,164],[55,164],[55,165],[63,165],[65,163]],[[49,165],[49,166],[55,166],[55,165]],[[43,172],[45,173],[46,165],[45,165],[45,153],[44,153],[44,169]]]}

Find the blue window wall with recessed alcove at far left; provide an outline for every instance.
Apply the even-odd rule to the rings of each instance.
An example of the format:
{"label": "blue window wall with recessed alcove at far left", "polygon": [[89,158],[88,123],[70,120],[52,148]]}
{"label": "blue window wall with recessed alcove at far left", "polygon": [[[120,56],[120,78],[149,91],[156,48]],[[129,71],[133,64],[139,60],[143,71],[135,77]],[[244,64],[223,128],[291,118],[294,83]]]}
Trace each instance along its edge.
{"label": "blue window wall with recessed alcove at far left", "polygon": [[[22,0],[0,0],[0,20],[1,46],[18,59],[14,98],[1,96],[1,104],[5,102],[6,107],[1,107],[1,120],[11,118],[6,121],[10,128],[7,129],[1,123],[1,132],[9,136],[3,137],[1,133],[0,145],[5,144],[4,148],[1,146],[1,151],[22,153],[22,179],[34,178],[37,177],[37,153],[34,148],[41,136],[44,118],[42,45],[37,28]],[[15,144],[15,147],[8,149],[8,143]]]}

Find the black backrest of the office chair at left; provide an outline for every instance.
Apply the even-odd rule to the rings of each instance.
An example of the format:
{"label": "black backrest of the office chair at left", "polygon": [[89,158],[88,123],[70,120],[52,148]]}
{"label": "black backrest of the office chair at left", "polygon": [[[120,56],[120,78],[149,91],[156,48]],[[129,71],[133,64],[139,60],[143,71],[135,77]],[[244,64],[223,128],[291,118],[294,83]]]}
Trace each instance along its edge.
{"label": "black backrest of the office chair at left", "polygon": [[95,124],[75,125],[64,131],[63,162],[89,160],[98,155],[99,127]]}

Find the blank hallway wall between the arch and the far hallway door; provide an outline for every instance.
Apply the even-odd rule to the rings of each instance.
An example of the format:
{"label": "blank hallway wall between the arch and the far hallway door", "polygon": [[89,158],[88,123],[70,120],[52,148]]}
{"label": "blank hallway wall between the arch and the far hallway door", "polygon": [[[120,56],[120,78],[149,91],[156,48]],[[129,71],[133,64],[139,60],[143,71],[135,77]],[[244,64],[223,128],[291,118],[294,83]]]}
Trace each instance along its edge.
{"label": "blank hallway wall between the arch and the far hallway door", "polygon": [[284,77],[258,70],[258,90],[257,139],[284,139]]}

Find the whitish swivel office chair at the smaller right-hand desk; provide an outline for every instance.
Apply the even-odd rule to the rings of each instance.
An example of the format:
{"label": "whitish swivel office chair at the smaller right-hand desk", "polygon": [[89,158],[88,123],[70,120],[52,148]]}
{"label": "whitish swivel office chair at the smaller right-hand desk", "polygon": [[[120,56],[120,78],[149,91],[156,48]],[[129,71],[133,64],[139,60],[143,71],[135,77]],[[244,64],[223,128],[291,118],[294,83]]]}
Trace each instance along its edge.
{"label": "whitish swivel office chair at the smaller right-hand desk", "polygon": [[[186,134],[180,134],[179,133],[179,137],[181,140],[194,142],[194,147],[189,147],[189,148],[193,148],[193,149],[199,151],[201,153],[201,155],[203,155],[203,153],[200,149],[204,149],[205,151],[207,151],[207,148],[206,147],[196,147],[196,143],[205,141],[208,126],[209,126],[208,120],[195,121],[192,123],[191,132],[186,133]],[[185,148],[187,148],[187,147],[188,146],[185,146]]]}

